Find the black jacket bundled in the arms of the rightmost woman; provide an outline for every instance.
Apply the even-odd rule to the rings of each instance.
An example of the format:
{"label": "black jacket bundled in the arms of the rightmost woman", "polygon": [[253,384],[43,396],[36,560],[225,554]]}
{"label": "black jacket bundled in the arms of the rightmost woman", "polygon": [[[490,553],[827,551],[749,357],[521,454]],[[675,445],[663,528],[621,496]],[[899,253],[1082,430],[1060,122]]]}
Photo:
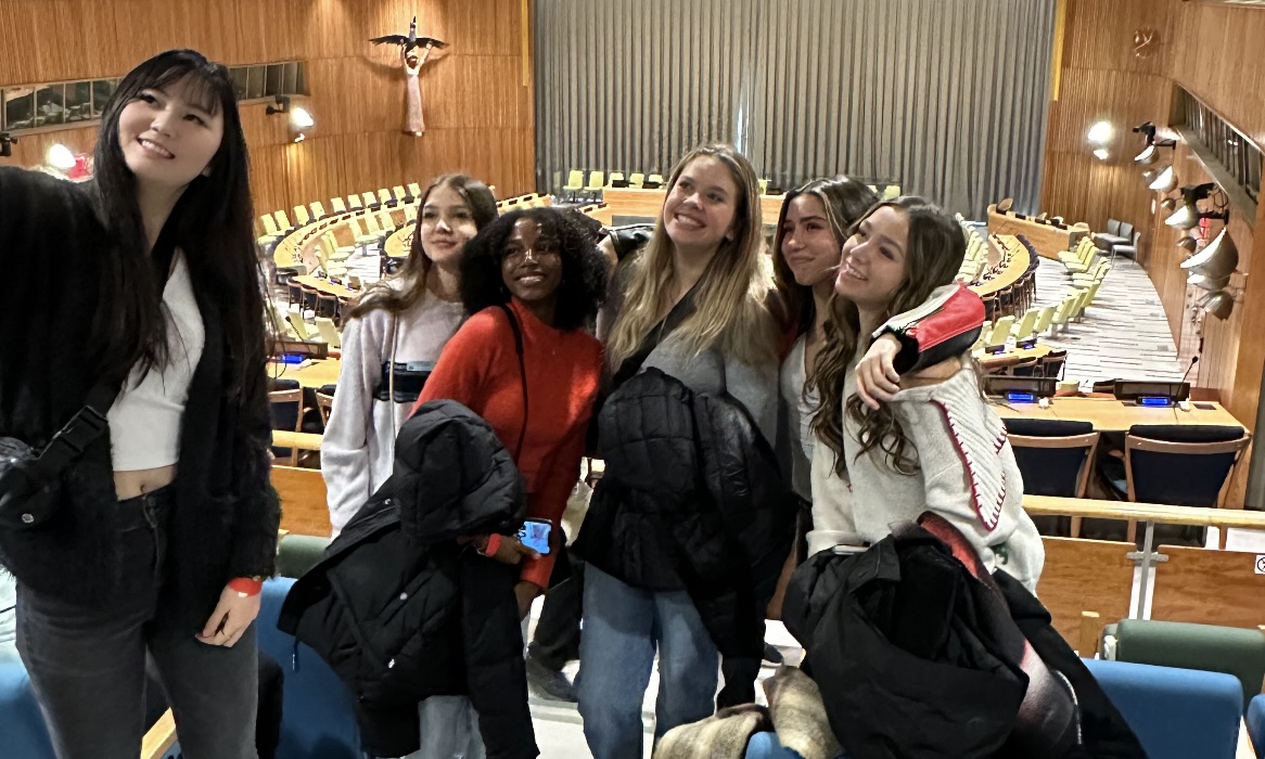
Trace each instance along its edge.
{"label": "black jacket bundled in the arms of the rightmost woman", "polygon": [[864,553],[817,553],[787,589],[783,619],[848,755],[1145,756],[1040,602],[985,574],[947,522],[922,521]]}

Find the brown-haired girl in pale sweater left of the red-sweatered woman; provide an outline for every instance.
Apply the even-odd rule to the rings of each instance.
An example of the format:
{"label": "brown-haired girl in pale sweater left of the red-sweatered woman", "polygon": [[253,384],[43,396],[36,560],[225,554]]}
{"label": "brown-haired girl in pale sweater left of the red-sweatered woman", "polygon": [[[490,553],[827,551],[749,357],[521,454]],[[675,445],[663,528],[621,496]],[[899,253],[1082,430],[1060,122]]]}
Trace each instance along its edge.
{"label": "brown-haired girl in pale sweater left of the red-sweatered woman", "polygon": [[462,252],[497,215],[487,185],[462,175],[438,177],[420,206],[400,273],[366,292],[343,325],[343,368],[320,447],[335,535],[391,476],[396,430],[464,316]]}

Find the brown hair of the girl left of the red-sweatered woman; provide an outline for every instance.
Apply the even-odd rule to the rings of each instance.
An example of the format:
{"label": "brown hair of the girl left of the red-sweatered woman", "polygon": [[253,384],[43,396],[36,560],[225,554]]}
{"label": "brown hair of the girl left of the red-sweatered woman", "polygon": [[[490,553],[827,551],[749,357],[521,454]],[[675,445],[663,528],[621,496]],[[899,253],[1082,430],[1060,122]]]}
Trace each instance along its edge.
{"label": "brown hair of the girl left of the red-sweatered woman", "polygon": [[[435,262],[430,259],[430,256],[426,256],[426,250],[423,248],[421,221],[426,199],[438,187],[450,187],[457,195],[462,196],[462,200],[471,209],[471,216],[474,218],[476,229],[483,229],[496,219],[496,197],[488,190],[487,185],[478,180],[472,180],[466,175],[441,175],[435,177],[417,201],[417,221],[412,228],[412,245],[409,248],[409,258],[405,259],[398,275],[396,275],[400,281],[406,282],[405,287],[392,287],[387,281],[376,282],[361,296],[355,306],[348,311],[348,319],[359,319],[373,309],[386,309],[392,314],[407,311],[425,295],[430,267]],[[464,252],[462,254],[464,256]]]}

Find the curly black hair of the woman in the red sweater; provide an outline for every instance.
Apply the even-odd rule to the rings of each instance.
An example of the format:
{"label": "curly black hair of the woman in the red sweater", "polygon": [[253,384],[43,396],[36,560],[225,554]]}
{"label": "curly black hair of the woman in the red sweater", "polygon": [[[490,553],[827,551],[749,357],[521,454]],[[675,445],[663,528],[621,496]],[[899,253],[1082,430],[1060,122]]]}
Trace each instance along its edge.
{"label": "curly black hair of the woman in the red sweater", "polygon": [[505,248],[519,219],[540,225],[541,234],[558,240],[562,256],[562,283],[554,307],[557,329],[591,326],[606,296],[608,263],[592,234],[573,216],[576,211],[552,207],[510,211],[484,226],[466,243],[462,257],[462,302],[467,314],[510,302],[510,288],[501,273]]}

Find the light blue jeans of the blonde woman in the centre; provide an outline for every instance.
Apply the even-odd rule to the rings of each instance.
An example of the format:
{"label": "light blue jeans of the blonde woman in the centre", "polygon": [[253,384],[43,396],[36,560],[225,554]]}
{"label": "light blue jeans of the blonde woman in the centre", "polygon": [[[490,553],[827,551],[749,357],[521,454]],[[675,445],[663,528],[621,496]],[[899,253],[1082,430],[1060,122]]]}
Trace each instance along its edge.
{"label": "light blue jeans of the blonde woman in the centre", "polygon": [[641,591],[589,564],[583,614],[577,696],[593,759],[641,759],[641,702],[655,649],[655,741],[716,711],[720,657],[684,591]]}

